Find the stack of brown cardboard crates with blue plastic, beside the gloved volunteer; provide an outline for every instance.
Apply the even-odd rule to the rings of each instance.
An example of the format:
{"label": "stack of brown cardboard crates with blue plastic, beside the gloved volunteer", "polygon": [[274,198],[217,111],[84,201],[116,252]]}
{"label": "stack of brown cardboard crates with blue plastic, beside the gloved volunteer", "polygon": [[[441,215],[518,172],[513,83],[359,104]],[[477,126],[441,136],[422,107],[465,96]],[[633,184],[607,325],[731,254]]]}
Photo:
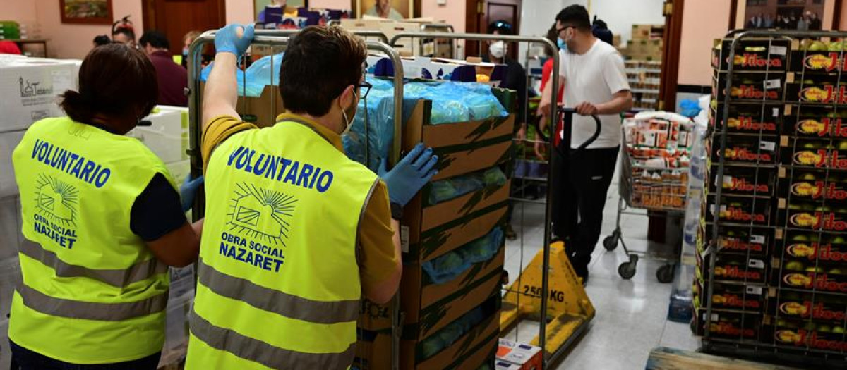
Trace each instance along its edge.
{"label": "stack of brown cardboard crates with blue plastic, beside the gloved volunteer", "polygon": [[[514,93],[495,90],[504,106]],[[418,101],[403,149],[423,142],[439,172],[404,209],[401,369],[476,370],[494,362],[500,336],[501,280],[515,115],[431,124],[431,101]],[[387,305],[363,302],[353,367],[390,368]]]}

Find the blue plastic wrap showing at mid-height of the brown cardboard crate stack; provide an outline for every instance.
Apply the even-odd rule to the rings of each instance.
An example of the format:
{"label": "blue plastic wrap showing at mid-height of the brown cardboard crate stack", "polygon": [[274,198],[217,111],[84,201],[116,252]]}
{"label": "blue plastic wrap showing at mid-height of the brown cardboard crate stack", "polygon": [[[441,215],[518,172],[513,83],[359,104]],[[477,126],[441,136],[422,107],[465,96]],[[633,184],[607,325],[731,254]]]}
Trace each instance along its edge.
{"label": "blue plastic wrap showing at mid-height of the brown cardboard crate stack", "polygon": [[503,231],[495,227],[484,237],[469,242],[455,251],[421,264],[428,280],[433,284],[444,284],[456,279],[473,264],[488,261],[495,256],[503,244]]}

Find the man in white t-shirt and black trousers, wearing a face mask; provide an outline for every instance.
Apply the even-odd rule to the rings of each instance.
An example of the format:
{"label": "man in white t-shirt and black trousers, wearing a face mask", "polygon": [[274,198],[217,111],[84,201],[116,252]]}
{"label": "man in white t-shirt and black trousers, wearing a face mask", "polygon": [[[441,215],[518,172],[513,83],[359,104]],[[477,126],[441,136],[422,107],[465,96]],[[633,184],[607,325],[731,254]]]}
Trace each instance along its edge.
{"label": "man in white t-shirt and black trousers, wearing a face mask", "polygon": [[[600,238],[606,193],[612,182],[621,144],[619,114],[632,107],[623,57],[591,34],[588,10],[571,5],[556,15],[556,31],[567,47],[559,52],[559,84],[564,86],[564,106],[573,107],[573,135],[562,142],[571,150],[562,166],[554,166],[553,231],[565,239],[577,275],[588,280],[591,253]],[[560,45],[562,42],[560,42]],[[551,85],[541,95],[540,112],[549,112]],[[586,150],[573,151],[595,133],[591,115],[600,117],[600,136]],[[562,133],[557,133],[561,135]]]}

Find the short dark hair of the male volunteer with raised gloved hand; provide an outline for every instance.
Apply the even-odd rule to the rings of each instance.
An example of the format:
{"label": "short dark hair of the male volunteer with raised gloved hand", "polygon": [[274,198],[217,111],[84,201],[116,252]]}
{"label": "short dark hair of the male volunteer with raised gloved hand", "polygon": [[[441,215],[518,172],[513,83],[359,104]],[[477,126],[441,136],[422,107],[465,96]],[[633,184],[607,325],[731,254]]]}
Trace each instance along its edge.
{"label": "short dark hair of the male volunteer with raised gloved hand", "polygon": [[340,27],[309,26],[288,43],[280,63],[285,109],[321,117],[347,86],[358,84],[368,48]]}

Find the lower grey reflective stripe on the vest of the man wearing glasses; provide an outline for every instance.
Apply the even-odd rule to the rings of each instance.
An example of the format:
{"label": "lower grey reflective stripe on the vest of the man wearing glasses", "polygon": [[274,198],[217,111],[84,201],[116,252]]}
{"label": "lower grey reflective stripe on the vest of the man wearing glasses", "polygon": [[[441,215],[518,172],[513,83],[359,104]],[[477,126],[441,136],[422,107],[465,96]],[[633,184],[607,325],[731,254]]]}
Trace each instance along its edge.
{"label": "lower grey reflective stripe on the vest of the man wearing glasses", "polygon": [[275,369],[288,368],[292,364],[295,364],[296,368],[303,369],[346,368],[356,352],[355,342],[346,351],[340,353],[304,353],[285,350],[271,346],[262,340],[238,334],[233,330],[215,326],[194,310],[191,310],[188,323],[191,334],[208,346]]}

